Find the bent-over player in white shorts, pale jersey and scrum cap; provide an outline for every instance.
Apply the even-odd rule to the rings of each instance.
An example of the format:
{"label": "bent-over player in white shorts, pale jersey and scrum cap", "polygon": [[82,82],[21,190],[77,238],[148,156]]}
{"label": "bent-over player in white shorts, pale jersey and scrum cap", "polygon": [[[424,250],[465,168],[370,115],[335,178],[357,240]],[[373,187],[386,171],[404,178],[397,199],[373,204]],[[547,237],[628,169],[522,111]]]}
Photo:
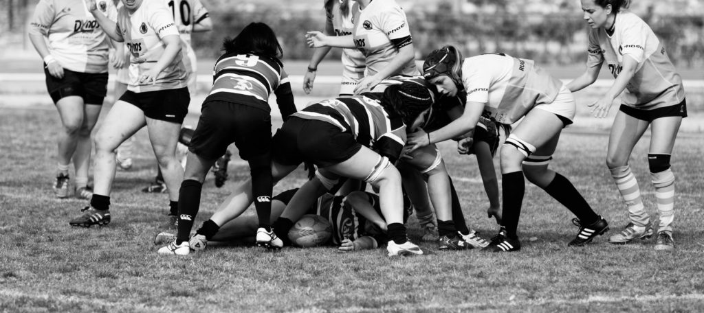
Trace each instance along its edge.
{"label": "bent-over player in white shorts, pale jersey and scrum cap", "polygon": [[469,132],[484,110],[489,110],[491,117],[502,124],[513,124],[524,117],[501,149],[506,236],[499,234],[484,250],[520,250],[516,230],[525,189],[524,171],[529,181],[577,215],[572,222],[579,226],[579,233],[569,245],[586,245],[608,230],[605,219],[591,209],[572,183],[548,170],[560,132],[574,117],[574,98],[562,82],[538,68],[532,60],[503,54],[463,59],[454,46],[433,51],[425,63],[424,75],[439,92],[455,95],[465,90],[467,103],[463,115],[446,127],[411,134],[408,143],[413,148]]}

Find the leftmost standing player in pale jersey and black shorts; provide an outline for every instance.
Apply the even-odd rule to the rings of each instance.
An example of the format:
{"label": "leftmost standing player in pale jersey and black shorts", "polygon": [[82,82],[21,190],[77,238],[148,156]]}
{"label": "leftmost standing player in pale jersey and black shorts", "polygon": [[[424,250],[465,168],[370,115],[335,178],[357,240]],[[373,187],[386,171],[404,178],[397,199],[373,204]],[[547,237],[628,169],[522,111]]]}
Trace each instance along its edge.
{"label": "leftmost standing player in pale jersey and black shorts", "polygon": [[[96,14],[115,20],[115,6],[101,0]],[[73,158],[75,194],[89,199],[88,169],[95,126],[108,84],[108,37],[82,0],[42,0],[30,22],[30,41],[44,60],[46,89],[61,117],[54,193],[69,195],[68,166]],[[48,39],[47,46],[45,39]],[[118,45],[119,53],[122,46]],[[121,66],[122,59],[113,59]]]}

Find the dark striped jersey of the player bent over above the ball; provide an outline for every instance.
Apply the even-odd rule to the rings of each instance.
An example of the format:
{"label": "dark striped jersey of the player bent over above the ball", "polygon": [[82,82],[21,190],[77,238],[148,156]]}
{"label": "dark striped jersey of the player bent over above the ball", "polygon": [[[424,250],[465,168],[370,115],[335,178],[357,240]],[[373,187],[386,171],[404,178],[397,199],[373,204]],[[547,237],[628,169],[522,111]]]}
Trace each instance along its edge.
{"label": "dark striped jersey of the player bent over above the ball", "polygon": [[390,115],[382,107],[381,94],[363,94],[351,98],[335,98],[312,104],[294,116],[321,120],[351,132],[358,143],[380,155],[398,160],[406,144],[406,125],[401,116]]}

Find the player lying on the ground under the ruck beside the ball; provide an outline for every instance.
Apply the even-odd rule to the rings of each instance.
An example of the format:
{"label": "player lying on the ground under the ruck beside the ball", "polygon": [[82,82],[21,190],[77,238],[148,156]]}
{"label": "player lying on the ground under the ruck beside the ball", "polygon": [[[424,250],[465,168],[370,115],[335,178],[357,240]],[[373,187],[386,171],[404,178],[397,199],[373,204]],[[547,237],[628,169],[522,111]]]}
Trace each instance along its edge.
{"label": "player lying on the ground under the ruck beside the ball", "polygon": [[[298,189],[279,193],[271,200],[271,217],[277,219]],[[403,205],[404,222],[408,219],[412,207]],[[332,225],[332,236],[324,243],[338,246],[341,251],[374,249],[386,244],[386,222],[379,206],[379,196],[363,191],[354,191],[347,196],[332,196],[326,193],[310,205],[306,214],[320,215]],[[218,245],[251,245],[252,236],[257,228],[257,219],[252,215],[240,216],[220,227],[220,231],[208,241],[200,241],[193,236],[189,241],[191,251],[203,250],[208,243]],[[159,233],[154,238],[155,245],[168,244],[175,239],[175,234]]]}

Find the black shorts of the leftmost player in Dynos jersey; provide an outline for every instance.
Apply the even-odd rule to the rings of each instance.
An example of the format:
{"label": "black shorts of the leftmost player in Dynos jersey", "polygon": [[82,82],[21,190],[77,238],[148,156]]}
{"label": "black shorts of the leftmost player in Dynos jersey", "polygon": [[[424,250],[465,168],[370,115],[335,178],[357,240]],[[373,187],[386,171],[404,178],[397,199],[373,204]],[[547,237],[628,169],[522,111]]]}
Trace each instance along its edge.
{"label": "black shorts of the leftmost player in Dynos jersey", "polygon": [[49,70],[44,68],[46,75],[46,90],[49,91],[51,100],[56,104],[61,98],[68,96],[80,96],[83,103],[101,106],[105,95],[108,94],[108,73],[82,73],[73,70],[63,69],[63,78],[58,79],[49,74]]}

